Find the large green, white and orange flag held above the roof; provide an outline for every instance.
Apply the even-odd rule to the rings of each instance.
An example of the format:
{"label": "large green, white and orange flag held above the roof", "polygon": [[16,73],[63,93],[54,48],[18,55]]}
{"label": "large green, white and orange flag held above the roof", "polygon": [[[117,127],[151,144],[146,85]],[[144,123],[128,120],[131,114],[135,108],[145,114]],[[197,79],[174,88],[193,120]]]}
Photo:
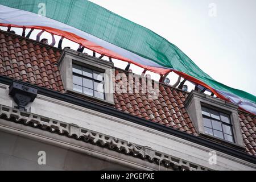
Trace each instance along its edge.
{"label": "large green, white and orange flag held above the roof", "polygon": [[[42,16],[43,12],[43,16]],[[174,44],[85,0],[0,1],[0,25],[44,29],[84,47],[164,75],[174,71],[256,114],[256,97],[213,80]]]}

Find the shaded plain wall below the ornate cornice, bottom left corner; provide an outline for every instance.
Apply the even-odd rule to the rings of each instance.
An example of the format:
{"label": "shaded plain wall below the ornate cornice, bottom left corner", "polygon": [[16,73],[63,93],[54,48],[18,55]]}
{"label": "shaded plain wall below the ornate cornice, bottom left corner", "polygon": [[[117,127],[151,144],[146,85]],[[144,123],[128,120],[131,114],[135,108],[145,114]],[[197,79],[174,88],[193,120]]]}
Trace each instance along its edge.
{"label": "shaded plain wall below the ornate cornice, bottom left corner", "polygon": [[[132,170],[107,160],[0,131],[0,170]],[[39,154],[44,151],[46,155]],[[38,155],[39,154],[39,155]],[[42,158],[45,162],[42,163]],[[39,160],[39,163],[38,163]]]}

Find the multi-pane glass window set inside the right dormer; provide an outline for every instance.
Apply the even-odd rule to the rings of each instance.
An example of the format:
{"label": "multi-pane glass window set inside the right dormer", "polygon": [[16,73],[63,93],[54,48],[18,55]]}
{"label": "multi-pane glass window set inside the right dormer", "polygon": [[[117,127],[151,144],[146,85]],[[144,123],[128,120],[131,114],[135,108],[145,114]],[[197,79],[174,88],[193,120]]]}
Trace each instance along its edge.
{"label": "multi-pane glass window set inside the right dormer", "polygon": [[229,142],[234,142],[232,125],[228,114],[216,110],[202,108],[204,130],[206,134],[213,135]]}

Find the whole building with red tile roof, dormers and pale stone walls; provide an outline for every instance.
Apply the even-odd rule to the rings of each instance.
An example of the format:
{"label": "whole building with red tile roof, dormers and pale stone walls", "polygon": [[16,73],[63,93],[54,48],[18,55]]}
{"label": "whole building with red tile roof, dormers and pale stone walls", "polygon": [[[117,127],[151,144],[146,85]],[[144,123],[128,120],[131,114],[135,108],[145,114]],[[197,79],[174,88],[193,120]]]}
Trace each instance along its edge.
{"label": "whole building with red tile roof, dormers and pale stone walls", "polygon": [[256,169],[237,105],[5,31],[0,116],[1,170]]}

